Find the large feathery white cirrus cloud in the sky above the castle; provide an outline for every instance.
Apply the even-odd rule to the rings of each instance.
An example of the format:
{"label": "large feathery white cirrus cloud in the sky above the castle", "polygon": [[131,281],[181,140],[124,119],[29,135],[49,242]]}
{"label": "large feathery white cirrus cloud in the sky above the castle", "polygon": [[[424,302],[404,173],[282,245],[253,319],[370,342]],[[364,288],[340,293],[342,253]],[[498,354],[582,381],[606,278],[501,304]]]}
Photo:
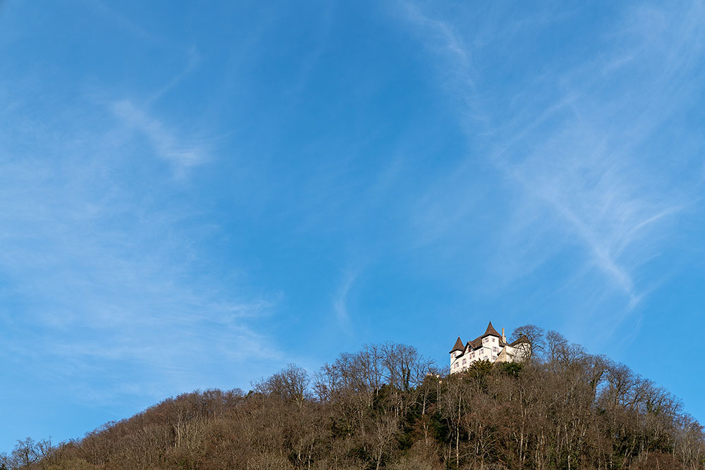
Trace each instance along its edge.
{"label": "large feathery white cirrus cloud in the sky above the castle", "polygon": [[[703,6],[627,6],[595,32],[597,47],[582,51],[583,60],[537,67],[508,56],[500,70],[523,86],[495,89],[502,76],[478,63],[486,48],[532,42],[570,15],[552,19],[547,8],[533,23],[507,24],[501,11],[484,11],[483,26],[474,27],[470,14],[450,18],[403,5],[436,57],[442,86],[460,90],[455,96],[469,111],[458,116],[476,149],[422,199],[417,226],[430,228],[422,237],[465,242],[471,226],[490,217],[478,214],[496,211],[490,218],[500,235],[484,240],[496,253],[487,261],[496,281],[523,278],[570,252],[582,260],[570,282],[601,278],[623,295],[626,311],[635,307],[649,289],[642,268],[668,246],[701,183],[673,185],[696,156],[658,133],[701,89],[692,76],[703,72]],[[477,168],[484,175],[494,168],[494,185],[477,180]]]}

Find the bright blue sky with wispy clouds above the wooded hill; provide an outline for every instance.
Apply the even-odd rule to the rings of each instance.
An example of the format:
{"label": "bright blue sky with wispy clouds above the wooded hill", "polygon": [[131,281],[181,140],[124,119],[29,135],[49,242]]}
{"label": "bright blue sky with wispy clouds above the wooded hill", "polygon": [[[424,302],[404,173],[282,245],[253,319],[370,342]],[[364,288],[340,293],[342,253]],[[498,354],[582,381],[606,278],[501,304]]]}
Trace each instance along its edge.
{"label": "bright blue sky with wispy clouds above the wooded hill", "polygon": [[0,450],[556,329],[705,421],[705,4],[0,4]]}

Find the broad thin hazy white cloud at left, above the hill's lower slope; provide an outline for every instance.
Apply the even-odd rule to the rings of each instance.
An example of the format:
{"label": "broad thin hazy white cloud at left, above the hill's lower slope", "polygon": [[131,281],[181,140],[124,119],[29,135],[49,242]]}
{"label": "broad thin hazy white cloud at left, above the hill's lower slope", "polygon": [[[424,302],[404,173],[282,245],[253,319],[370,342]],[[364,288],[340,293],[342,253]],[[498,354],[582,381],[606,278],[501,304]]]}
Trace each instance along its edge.
{"label": "broad thin hazy white cloud at left, above the hill's lower slope", "polygon": [[[107,127],[68,113],[43,123],[25,106],[0,111],[3,361],[51,376],[77,397],[111,402],[129,390],[163,397],[209,386],[214,375],[202,371],[257,361],[269,340],[250,323],[276,299],[248,292],[239,272],[204,276],[200,237],[217,226],[193,227],[190,218],[207,214],[155,200],[179,187],[171,175],[135,180],[142,155],[116,139],[101,110],[76,106],[91,125],[103,118]],[[130,102],[115,109],[178,171],[204,160]],[[13,137],[29,130],[32,140]],[[225,376],[251,379],[235,370]]]}

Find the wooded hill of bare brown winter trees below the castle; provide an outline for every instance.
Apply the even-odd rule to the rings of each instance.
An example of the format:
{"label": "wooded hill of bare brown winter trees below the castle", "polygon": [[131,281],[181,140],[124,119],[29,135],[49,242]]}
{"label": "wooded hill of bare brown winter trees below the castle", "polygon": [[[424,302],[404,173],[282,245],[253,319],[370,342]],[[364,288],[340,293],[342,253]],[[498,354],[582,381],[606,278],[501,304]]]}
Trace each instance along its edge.
{"label": "wooded hill of bare brown winter trees below the castle", "polygon": [[448,376],[414,347],[369,345],[57,447],[21,441],[0,469],[705,469],[703,428],[666,390],[556,332],[522,334],[522,364]]}

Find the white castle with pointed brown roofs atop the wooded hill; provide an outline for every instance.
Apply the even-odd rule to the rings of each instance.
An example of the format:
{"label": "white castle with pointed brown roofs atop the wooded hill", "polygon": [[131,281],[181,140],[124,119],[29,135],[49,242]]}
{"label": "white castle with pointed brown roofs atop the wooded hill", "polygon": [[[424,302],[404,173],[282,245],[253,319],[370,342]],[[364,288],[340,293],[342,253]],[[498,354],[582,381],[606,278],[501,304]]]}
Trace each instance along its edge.
{"label": "white castle with pointed brown roofs atop the wooded hill", "polygon": [[484,334],[472,341],[463,344],[458,336],[455,346],[450,350],[450,373],[465,371],[474,362],[515,362],[529,357],[531,345],[526,336],[522,335],[514,342],[508,343],[504,335],[497,333],[497,330],[489,322]]}

